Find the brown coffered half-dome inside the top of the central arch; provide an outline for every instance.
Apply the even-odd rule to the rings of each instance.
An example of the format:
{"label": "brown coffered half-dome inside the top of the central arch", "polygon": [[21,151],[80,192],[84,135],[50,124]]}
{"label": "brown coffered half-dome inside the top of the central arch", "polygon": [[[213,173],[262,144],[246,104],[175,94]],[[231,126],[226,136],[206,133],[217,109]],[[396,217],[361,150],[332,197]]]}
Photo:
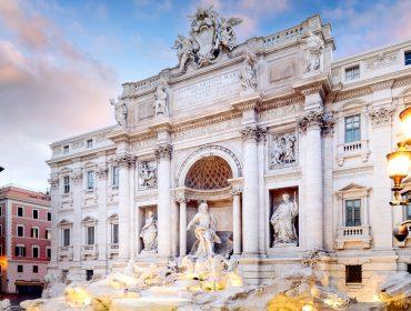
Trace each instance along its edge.
{"label": "brown coffered half-dome inside the top of the central arch", "polygon": [[232,171],[229,163],[217,156],[198,160],[188,171],[184,185],[198,190],[215,190],[229,187]]}

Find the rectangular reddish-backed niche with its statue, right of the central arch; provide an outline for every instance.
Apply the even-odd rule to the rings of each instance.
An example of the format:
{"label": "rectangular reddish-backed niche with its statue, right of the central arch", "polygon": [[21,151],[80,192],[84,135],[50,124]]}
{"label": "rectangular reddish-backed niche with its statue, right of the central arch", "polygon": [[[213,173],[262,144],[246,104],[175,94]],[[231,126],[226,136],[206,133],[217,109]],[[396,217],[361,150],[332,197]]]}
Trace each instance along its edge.
{"label": "rectangular reddish-backed niche with its statue, right of the central arch", "polygon": [[270,244],[272,248],[297,247],[299,243],[299,189],[270,190]]}

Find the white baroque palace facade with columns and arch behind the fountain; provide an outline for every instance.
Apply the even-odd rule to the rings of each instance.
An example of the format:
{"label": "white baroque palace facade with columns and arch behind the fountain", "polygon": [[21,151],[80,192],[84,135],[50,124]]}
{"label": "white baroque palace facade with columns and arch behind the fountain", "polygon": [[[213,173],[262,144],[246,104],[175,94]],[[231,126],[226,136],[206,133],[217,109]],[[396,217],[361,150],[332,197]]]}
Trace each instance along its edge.
{"label": "white baroque palace facade with columns and arch behind the fountain", "polygon": [[[50,269],[84,280],[209,245],[261,283],[323,250],[360,300],[410,271],[385,154],[411,104],[411,41],[334,61],[319,16],[238,44],[240,22],[199,9],[179,64],[111,100],[118,124],[51,144]],[[201,202],[212,237],[191,228]]]}

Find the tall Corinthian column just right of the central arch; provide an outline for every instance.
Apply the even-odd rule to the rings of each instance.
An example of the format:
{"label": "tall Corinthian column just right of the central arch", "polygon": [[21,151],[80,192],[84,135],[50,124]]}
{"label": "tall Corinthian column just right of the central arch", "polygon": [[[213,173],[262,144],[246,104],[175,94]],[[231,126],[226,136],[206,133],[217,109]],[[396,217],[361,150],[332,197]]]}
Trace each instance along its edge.
{"label": "tall Corinthian column just right of the central arch", "polygon": [[259,171],[257,141],[261,129],[255,126],[241,131],[243,140],[244,188],[242,194],[242,247],[243,254],[259,253]]}

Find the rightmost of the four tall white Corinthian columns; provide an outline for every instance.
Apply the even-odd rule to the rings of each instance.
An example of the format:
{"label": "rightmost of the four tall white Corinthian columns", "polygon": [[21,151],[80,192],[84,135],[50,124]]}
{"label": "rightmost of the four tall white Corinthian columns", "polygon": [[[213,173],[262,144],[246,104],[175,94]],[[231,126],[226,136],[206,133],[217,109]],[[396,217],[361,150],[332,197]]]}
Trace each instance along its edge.
{"label": "rightmost of the four tall white Corinthian columns", "polygon": [[305,214],[307,249],[323,248],[323,209],[322,209],[322,152],[321,126],[322,109],[308,112],[301,120],[300,127],[305,131]]}

